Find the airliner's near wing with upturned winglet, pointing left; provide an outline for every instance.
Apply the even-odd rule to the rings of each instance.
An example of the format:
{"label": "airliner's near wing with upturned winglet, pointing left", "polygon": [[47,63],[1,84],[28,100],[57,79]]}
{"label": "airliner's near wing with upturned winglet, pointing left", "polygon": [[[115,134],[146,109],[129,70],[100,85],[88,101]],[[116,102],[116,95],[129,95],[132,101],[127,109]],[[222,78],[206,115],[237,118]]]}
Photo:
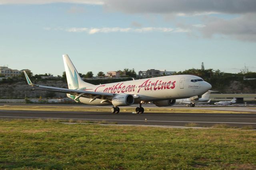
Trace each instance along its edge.
{"label": "airliner's near wing with upturned winglet, pointing left", "polygon": [[[68,88],[58,88],[58,87],[50,87],[50,86],[41,86],[37,84],[33,84],[31,80],[29,79],[28,75],[24,71],[26,80],[30,86],[35,86],[36,88],[33,88],[34,90],[46,90],[46,91],[52,91],[52,92],[59,92],[59,93],[68,93],[71,95],[76,96],[74,100],[80,97],[86,97],[86,98],[108,98],[111,99],[114,94],[113,93],[104,93],[104,92],[90,92],[90,91],[84,91],[84,90],[72,90]],[[95,100],[94,99],[94,100]],[[93,100],[92,100],[93,101]]]}

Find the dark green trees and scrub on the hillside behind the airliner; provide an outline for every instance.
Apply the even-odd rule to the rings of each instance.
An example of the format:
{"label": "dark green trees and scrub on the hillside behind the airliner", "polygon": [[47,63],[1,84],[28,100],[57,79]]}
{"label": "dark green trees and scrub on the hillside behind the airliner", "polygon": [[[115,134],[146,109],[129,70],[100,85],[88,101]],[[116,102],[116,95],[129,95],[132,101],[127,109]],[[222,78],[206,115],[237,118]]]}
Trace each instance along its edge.
{"label": "dark green trees and scrub on the hillside behind the airliner", "polygon": [[[129,71],[129,70],[128,70]],[[132,71],[134,72],[134,70]],[[90,73],[90,72],[88,72]],[[128,76],[133,74],[127,73]],[[203,78],[206,82],[212,85],[212,90],[219,91],[221,93],[256,93],[256,80],[246,80],[245,78],[256,78],[256,72],[240,72],[237,74],[224,73],[220,70],[213,69],[189,69],[182,72],[176,72],[175,74],[192,74]],[[44,86],[54,86],[60,88],[68,88],[66,83],[66,74],[58,76],[57,79],[41,79],[41,76],[49,76],[51,74],[34,75],[29,74],[32,82]],[[86,77],[87,74],[80,74],[82,77]],[[90,74],[92,76],[92,74]],[[24,78],[24,75],[21,78]],[[31,90],[32,88],[26,84],[25,79],[21,78],[8,78],[0,81],[0,98],[63,98],[66,94],[45,92],[38,90]],[[120,78],[120,79],[99,79],[99,80],[86,80],[90,84],[106,84],[120,81],[128,81],[132,78]]]}

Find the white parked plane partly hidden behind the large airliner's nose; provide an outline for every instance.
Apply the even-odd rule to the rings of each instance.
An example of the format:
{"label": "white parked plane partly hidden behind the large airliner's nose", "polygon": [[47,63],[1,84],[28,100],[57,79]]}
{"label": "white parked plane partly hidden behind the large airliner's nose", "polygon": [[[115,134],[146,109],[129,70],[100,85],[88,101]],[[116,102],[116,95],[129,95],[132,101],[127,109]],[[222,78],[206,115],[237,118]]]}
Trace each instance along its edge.
{"label": "white parked plane partly hidden behind the large airliner's nose", "polygon": [[195,104],[210,103],[211,99],[209,100],[209,97],[211,92],[217,92],[217,91],[209,90],[206,93],[204,93],[201,98],[198,98],[198,96],[193,96],[190,98],[177,99],[176,103],[187,104],[189,107],[195,107]]}

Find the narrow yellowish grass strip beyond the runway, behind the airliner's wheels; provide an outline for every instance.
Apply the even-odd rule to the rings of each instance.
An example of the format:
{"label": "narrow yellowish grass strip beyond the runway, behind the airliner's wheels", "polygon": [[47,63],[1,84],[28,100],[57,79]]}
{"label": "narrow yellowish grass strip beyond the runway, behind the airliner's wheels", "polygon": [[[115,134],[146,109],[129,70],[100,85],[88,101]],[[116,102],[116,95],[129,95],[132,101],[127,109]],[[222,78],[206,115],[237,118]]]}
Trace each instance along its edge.
{"label": "narrow yellowish grass strip beyond the runway, behind the airliner's wheels", "polygon": [[[206,110],[203,108],[144,108],[145,113],[255,113],[230,110]],[[83,107],[83,106],[0,106],[0,110],[35,110],[35,111],[73,111],[73,112],[109,112],[110,107]],[[120,107],[120,112],[135,112],[135,107]]]}

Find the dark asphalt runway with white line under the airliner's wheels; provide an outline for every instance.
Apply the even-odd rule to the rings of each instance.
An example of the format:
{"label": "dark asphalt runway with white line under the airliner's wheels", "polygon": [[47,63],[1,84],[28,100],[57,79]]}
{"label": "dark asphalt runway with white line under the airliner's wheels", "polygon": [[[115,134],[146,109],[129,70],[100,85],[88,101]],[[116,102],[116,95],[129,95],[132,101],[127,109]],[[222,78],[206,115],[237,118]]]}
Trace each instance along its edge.
{"label": "dark asphalt runway with white line under the airliner's wheels", "polygon": [[93,122],[106,121],[118,124],[185,126],[190,122],[199,126],[210,127],[214,124],[228,124],[243,127],[251,125],[256,128],[256,114],[194,114],[194,113],[119,113],[109,112],[48,112],[48,111],[13,111],[0,110],[1,119],[43,118],[74,119]]}

